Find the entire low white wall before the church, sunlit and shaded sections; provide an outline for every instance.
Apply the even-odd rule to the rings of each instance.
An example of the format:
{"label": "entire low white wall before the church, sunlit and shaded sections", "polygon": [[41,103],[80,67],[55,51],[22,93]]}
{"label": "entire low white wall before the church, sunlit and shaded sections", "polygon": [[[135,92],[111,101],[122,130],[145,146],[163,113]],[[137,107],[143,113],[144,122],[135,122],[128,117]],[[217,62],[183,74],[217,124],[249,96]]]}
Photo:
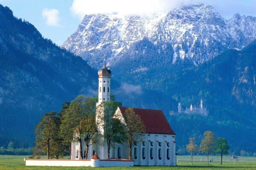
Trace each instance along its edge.
{"label": "entire low white wall before the church, sunlit and shaded sections", "polygon": [[[99,159],[98,159],[99,160]],[[71,160],[71,159],[27,159],[26,166],[65,166],[65,167],[94,167],[95,159]],[[97,166],[98,165],[98,166]],[[133,167],[131,160],[105,160],[100,159],[95,167]]]}

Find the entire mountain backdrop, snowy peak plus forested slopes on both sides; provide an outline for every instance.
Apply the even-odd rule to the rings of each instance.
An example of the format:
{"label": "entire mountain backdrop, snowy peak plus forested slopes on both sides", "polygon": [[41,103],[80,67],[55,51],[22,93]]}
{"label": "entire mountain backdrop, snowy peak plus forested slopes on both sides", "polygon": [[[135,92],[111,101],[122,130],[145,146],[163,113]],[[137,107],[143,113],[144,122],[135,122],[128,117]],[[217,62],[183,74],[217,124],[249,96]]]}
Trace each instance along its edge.
{"label": "entire mountain backdrop, snowy peak plus forested slopes on both sides", "polygon": [[[232,153],[254,152],[254,24],[239,14],[225,20],[204,4],[152,16],[91,14],[60,48],[0,5],[0,146],[32,146],[44,113],[60,111],[79,94],[96,96],[107,54],[116,99],[163,110],[177,150],[212,130]],[[169,115],[178,102],[189,107],[201,98],[209,116]]]}

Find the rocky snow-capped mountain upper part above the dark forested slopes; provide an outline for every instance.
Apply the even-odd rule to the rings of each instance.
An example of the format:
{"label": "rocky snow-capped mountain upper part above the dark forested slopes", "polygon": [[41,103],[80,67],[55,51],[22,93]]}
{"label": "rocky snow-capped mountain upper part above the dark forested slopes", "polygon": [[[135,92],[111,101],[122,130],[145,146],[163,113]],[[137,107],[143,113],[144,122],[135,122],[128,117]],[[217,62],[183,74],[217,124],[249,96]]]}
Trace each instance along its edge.
{"label": "rocky snow-capped mountain upper part above the dark forested slopes", "polygon": [[172,63],[189,59],[198,65],[228,48],[241,49],[255,37],[255,17],[235,14],[225,20],[212,6],[197,3],[151,16],[85,15],[62,47],[99,68],[103,53],[114,65],[132,44],[148,39],[162,47],[158,50],[171,45]]}

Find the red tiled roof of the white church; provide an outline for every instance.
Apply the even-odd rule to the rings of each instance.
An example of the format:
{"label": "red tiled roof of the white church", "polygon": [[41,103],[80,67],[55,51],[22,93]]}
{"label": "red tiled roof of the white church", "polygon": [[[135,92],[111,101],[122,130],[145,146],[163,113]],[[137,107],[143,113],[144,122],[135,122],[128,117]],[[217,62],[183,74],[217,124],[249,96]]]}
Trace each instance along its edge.
{"label": "red tiled roof of the white church", "polygon": [[[126,108],[119,107],[122,115],[124,115]],[[166,120],[163,111],[152,109],[134,108],[136,114],[145,125],[146,133],[172,134],[175,135],[172,127]]]}

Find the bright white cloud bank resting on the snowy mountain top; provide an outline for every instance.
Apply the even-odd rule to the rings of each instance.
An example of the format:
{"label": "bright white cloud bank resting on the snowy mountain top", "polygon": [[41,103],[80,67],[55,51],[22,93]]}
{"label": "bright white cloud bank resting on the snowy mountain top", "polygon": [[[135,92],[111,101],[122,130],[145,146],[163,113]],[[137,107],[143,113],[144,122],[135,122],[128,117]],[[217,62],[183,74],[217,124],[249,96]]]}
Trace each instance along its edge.
{"label": "bright white cloud bank resting on the snowy mountain top", "polygon": [[191,0],[73,0],[70,10],[83,18],[85,14],[153,14],[177,8]]}

